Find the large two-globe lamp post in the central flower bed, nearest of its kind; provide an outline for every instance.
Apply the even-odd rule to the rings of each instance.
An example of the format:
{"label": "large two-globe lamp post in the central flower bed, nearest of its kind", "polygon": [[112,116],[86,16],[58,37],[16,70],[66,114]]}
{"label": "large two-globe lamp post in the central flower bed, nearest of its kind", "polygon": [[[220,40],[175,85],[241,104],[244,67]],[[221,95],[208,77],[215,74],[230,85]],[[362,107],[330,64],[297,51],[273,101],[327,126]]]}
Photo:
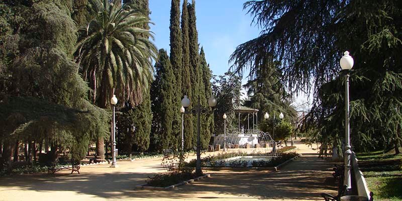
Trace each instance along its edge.
{"label": "large two-globe lamp post in the central flower bed, nearest of its kind", "polygon": [[[187,108],[188,106],[190,106],[190,100],[188,99],[187,95],[184,95],[184,98],[181,100],[181,105],[184,108]],[[211,108],[214,108],[215,106],[217,106],[217,99],[215,98],[214,95],[212,95],[210,97],[210,99],[208,99],[208,105]],[[200,137],[200,114],[208,114],[209,113],[209,109],[208,108],[203,108],[201,107],[200,103],[199,103],[199,96],[198,96],[198,104],[196,106],[196,108],[191,109],[191,111],[185,111],[185,114],[188,113],[192,113],[192,114],[196,114],[197,115],[197,161],[195,164],[195,174],[196,175],[201,175],[203,172],[201,170],[201,137]],[[213,110],[212,110],[213,111]]]}

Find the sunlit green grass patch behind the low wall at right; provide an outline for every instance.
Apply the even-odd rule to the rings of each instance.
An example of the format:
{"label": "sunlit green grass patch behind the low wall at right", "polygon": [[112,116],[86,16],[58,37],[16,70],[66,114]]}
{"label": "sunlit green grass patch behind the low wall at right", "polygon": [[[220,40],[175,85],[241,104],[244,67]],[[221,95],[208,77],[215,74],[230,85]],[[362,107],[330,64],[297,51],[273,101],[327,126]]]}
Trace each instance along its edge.
{"label": "sunlit green grass patch behind the low wall at right", "polygon": [[374,151],[357,153],[359,168],[374,193],[374,200],[402,200],[402,154]]}

